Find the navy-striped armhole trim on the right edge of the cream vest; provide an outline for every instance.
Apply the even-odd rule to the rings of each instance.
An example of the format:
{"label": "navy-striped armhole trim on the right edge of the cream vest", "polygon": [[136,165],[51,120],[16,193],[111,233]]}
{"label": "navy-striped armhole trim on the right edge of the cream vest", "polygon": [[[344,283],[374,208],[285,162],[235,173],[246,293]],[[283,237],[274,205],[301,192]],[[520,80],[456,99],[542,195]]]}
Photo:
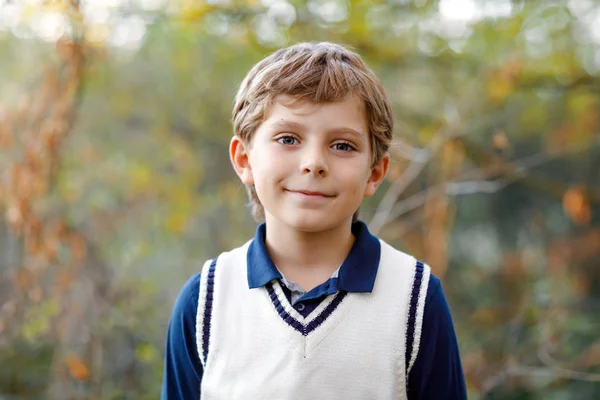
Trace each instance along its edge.
{"label": "navy-striped armhole trim on the right edge of the cream vest", "polygon": [[415,277],[413,279],[408,321],[406,329],[406,376],[417,359],[421,342],[421,329],[423,327],[423,314],[425,311],[425,297],[429,286],[431,269],[428,265],[417,260]]}

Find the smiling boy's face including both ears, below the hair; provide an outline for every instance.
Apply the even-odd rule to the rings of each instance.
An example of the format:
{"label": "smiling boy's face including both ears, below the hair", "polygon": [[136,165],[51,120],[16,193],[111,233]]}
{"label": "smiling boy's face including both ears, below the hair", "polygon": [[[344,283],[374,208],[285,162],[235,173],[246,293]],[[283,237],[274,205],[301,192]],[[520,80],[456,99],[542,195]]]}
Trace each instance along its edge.
{"label": "smiling boy's face including both ears, below the hair", "polygon": [[389,157],[372,166],[358,98],[294,100],[278,96],[251,143],[233,138],[231,158],[242,182],[255,186],[267,224],[322,232],[351,220],[385,177]]}

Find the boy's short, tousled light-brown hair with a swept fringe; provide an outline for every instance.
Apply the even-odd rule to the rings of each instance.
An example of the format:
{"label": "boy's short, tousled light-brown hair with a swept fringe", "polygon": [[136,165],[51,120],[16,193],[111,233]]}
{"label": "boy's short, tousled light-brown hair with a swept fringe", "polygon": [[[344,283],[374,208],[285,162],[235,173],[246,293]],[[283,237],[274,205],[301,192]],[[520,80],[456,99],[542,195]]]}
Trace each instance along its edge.
{"label": "boy's short, tousled light-brown hair with a swept fringe", "polygon": [[[344,100],[356,95],[363,100],[369,129],[372,165],[387,152],[392,140],[393,117],[381,82],[362,58],[334,43],[298,43],[258,62],[242,81],[233,107],[233,131],[250,143],[267,118],[275,97],[292,96],[315,104]],[[264,208],[254,186],[247,186],[252,215],[264,219]],[[353,220],[358,218],[358,210]]]}

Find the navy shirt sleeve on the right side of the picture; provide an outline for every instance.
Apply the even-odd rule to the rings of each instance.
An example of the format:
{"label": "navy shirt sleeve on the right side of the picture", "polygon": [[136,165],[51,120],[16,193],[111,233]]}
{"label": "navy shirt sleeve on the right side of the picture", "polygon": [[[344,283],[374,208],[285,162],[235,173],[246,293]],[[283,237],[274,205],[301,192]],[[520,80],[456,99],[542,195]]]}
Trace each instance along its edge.
{"label": "navy shirt sleeve on the right side of the picture", "polygon": [[408,399],[466,398],[465,378],[450,308],[440,280],[431,274],[419,352],[408,376]]}

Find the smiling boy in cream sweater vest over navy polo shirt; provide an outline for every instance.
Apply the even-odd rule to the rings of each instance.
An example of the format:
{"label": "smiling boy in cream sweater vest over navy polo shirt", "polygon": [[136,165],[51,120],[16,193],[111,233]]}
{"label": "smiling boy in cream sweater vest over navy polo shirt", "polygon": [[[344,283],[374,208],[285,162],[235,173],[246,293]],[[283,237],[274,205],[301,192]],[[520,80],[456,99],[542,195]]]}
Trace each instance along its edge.
{"label": "smiling boy in cream sweater vest over navy polo shirt", "polygon": [[393,125],[362,59],[331,43],[273,53],[233,125],[231,161],[265,223],[179,294],[162,398],[465,399],[439,279],[357,220]]}

